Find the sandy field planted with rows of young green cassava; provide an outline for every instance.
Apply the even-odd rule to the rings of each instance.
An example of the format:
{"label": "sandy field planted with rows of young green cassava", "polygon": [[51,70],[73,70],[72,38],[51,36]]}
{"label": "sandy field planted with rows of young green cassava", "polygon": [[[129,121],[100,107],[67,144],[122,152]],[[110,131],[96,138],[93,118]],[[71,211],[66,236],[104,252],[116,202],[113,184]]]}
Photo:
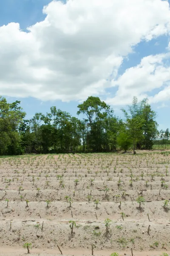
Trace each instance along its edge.
{"label": "sandy field planted with rows of young green cassava", "polygon": [[169,153],[0,158],[0,255],[168,256]]}

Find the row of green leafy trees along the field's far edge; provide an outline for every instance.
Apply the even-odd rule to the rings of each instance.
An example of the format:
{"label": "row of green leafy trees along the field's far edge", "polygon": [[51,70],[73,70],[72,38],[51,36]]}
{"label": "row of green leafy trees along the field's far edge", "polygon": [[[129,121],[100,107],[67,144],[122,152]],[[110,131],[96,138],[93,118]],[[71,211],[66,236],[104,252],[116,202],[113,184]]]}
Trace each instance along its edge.
{"label": "row of green leafy trees along the field's far edge", "polygon": [[[122,148],[152,149],[154,141],[169,142],[170,132],[158,131],[156,112],[148,100],[133,97],[125,119],[115,116],[111,106],[90,96],[78,105],[77,117],[50,108],[25,119],[20,101],[8,103],[0,96],[0,155],[23,153],[109,152]],[[79,119],[79,115],[83,116]]]}

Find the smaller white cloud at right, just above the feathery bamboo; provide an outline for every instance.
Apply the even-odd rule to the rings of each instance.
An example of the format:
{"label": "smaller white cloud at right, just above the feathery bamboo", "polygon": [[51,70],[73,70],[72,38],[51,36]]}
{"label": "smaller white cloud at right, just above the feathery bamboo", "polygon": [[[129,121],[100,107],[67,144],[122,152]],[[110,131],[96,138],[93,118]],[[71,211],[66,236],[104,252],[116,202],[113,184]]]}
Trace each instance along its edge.
{"label": "smaller white cloud at right, just above the feathery bamboo", "polygon": [[[170,99],[170,86],[162,88],[170,81],[170,66],[166,60],[170,58],[170,53],[150,55],[142,58],[141,63],[136,67],[130,67],[116,81],[112,81],[112,86],[119,88],[115,97],[108,98],[111,105],[130,104],[133,96],[139,100],[147,97],[150,103],[161,102]],[[155,96],[148,96],[154,89],[161,90]]]}

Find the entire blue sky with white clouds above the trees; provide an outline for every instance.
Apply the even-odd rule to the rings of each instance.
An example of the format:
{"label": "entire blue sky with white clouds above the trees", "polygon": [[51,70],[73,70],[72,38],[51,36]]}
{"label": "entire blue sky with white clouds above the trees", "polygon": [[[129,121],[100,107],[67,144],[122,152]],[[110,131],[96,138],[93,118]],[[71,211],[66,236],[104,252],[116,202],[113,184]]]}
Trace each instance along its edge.
{"label": "entire blue sky with white clouds above the trees", "polygon": [[88,96],[123,117],[148,98],[170,128],[170,1],[1,0],[0,95],[27,118],[51,106],[76,116]]}

